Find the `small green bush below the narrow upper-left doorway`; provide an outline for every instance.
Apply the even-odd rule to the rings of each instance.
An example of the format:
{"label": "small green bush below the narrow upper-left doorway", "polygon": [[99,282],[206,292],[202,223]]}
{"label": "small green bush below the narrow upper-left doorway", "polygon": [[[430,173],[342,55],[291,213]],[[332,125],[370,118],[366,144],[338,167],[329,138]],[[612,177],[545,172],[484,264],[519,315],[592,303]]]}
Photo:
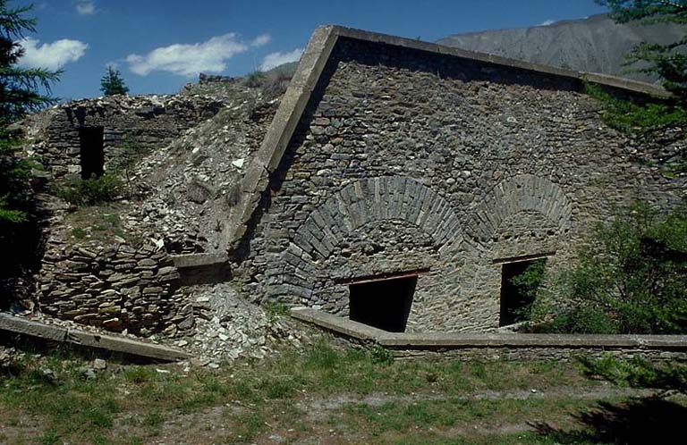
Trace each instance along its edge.
{"label": "small green bush below the narrow upper-left doorway", "polygon": [[76,206],[95,206],[114,200],[123,191],[122,180],[112,174],[99,178],[70,178],[57,190],[57,196]]}

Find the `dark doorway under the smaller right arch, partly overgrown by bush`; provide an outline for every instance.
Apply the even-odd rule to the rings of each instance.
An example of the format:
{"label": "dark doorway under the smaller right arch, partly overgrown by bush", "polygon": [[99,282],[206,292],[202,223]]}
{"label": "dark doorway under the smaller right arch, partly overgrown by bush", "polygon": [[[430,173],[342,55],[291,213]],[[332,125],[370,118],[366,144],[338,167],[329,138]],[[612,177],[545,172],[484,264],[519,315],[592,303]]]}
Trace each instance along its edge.
{"label": "dark doorway under the smaller right arch, partly overgrown by bush", "polygon": [[530,320],[531,307],[544,277],[546,258],[506,263],[501,273],[501,316],[499,325]]}

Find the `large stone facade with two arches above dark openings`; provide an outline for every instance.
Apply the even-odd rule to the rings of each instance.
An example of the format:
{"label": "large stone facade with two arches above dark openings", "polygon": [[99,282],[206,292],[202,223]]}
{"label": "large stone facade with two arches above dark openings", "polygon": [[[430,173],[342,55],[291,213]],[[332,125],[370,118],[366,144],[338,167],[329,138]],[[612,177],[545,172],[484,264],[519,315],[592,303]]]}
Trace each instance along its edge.
{"label": "large stone facade with two arches above dark openings", "polygon": [[685,189],[581,90],[341,38],[243,240],[244,290],[347,315],[341,279],[428,269],[409,331],[496,328],[502,261],[555,271],[613,206]]}

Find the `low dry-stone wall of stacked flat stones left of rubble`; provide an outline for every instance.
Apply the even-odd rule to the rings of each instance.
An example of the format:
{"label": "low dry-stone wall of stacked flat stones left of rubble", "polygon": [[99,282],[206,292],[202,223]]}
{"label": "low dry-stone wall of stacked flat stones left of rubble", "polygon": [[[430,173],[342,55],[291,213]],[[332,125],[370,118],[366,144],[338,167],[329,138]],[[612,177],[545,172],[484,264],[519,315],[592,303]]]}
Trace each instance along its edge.
{"label": "low dry-stone wall of stacked flat stones left of rubble", "polygon": [[72,247],[49,239],[38,282],[40,310],[108,331],[174,335],[193,327],[179,273],[161,248]]}

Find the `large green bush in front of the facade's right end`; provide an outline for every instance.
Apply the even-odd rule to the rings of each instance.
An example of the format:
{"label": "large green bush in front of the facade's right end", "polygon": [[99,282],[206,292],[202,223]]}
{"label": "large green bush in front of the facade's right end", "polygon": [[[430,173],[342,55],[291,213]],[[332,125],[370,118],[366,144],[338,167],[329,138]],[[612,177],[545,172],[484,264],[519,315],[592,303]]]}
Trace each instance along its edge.
{"label": "large green bush in front of the facade's right end", "polygon": [[552,287],[566,299],[548,302],[553,320],[539,330],[687,333],[687,207],[658,214],[636,205],[593,234]]}

